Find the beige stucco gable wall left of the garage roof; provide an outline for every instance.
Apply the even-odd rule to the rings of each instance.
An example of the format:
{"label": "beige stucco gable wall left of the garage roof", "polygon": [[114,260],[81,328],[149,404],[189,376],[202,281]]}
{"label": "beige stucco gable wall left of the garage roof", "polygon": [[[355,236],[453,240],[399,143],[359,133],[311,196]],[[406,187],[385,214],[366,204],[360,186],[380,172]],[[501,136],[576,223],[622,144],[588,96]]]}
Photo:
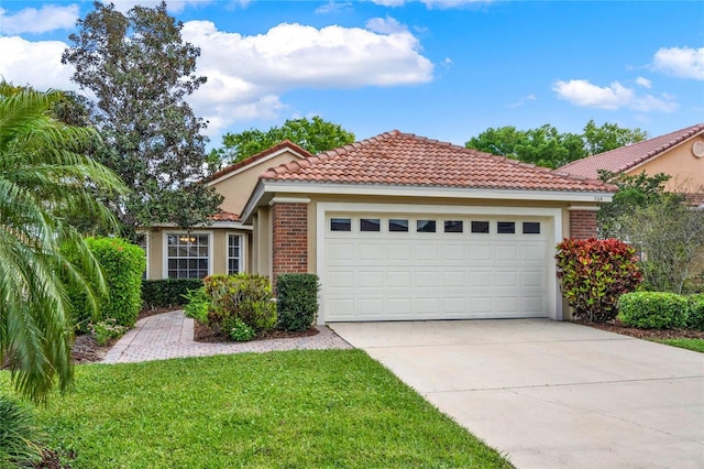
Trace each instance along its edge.
{"label": "beige stucco gable wall left of the garage roof", "polygon": [[240,215],[252,190],[256,186],[260,175],[270,167],[278,166],[298,156],[290,152],[284,152],[251,166],[232,172],[221,179],[216,179],[211,185],[216,192],[224,197],[221,209]]}

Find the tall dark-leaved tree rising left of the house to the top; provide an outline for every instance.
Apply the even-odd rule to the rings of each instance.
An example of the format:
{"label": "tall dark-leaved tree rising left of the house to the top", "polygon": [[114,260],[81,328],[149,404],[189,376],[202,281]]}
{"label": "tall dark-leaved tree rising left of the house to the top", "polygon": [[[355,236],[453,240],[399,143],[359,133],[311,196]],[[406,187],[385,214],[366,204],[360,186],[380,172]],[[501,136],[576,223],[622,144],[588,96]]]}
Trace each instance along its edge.
{"label": "tall dark-leaved tree rising left of the house to the top", "polygon": [[96,1],[78,20],[62,62],[72,79],[97,97],[95,122],[105,145],[96,159],[114,170],[131,193],[114,206],[128,228],[207,223],[222,197],[198,182],[211,174],[206,127],[184,98],[206,81],[195,75],[200,50],[182,41],[183,23],[162,2],[127,15]]}

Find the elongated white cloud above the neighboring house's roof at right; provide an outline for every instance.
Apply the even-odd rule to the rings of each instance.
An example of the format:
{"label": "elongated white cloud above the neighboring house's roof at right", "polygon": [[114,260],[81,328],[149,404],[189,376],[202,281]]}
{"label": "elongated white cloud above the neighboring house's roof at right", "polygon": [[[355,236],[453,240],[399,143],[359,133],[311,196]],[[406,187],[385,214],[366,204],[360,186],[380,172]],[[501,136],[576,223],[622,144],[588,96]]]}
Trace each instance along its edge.
{"label": "elongated white cloud above the neighboring house's roof at right", "polygon": [[626,88],[618,81],[609,86],[600,87],[584,79],[557,81],[552,90],[559,99],[564,99],[575,106],[616,110],[620,108],[634,109],[640,112],[672,112],[679,105],[670,95],[656,97],[652,95],[638,96],[631,88]]}

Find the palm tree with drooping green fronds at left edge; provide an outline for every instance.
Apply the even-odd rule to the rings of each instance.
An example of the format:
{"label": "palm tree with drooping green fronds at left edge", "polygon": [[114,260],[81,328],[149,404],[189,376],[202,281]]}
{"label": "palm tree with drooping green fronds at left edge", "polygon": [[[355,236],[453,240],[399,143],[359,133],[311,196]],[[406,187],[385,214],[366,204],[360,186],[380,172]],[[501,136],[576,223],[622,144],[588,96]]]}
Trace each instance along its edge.
{"label": "palm tree with drooping green fronds at left edge", "polygon": [[[85,155],[97,133],[52,117],[62,98],[0,83],[0,360],[14,388],[42,402],[58,379],[73,383],[73,330],[66,290],[105,285],[80,232],[64,214],[117,227],[95,190],[123,193],[105,166]],[[70,262],[65,254],[73,252]]]}

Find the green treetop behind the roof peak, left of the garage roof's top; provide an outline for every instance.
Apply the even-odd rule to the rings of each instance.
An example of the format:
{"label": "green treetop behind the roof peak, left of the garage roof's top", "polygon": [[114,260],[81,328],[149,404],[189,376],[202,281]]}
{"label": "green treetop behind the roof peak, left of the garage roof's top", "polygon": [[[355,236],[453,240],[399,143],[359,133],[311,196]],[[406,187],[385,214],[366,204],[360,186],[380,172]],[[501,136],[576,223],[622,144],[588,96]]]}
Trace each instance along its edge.
{"label": "green treetop behind the roof peak, left of the garage roof's top", "polygon": [[222,146],[211,152],[211,159],[223,164],[237,163],[286,139],[318,154],[354,142],[354,134],[318,116],[312,120],[287,120],[282,127],[272,127],[266,132],[250,129],[240,133],[226,133]]}

